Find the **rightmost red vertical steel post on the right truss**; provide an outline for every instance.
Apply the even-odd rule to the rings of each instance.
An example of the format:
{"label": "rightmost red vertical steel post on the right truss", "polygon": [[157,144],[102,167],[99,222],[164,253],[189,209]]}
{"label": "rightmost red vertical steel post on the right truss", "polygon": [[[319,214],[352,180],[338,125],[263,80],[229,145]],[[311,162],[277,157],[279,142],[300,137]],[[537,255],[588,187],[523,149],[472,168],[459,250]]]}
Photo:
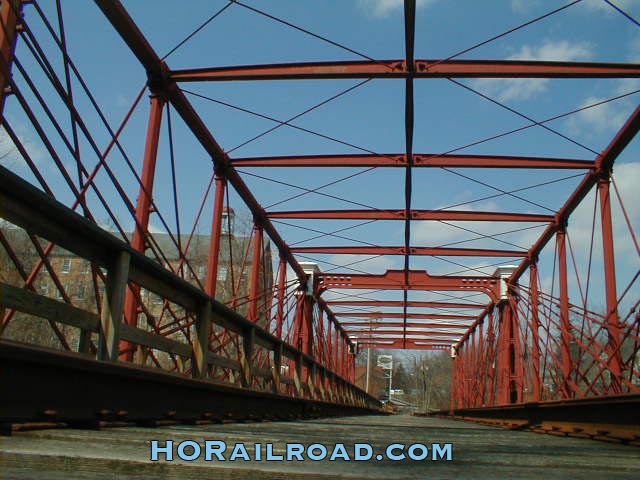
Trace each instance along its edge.
{"label": "rightmost red vertical steel post on the right truss", "polygon": [[602,253],[604,255],[604,280],[607,299],[606,345],[609,372],[611,373],[612,393],[622,393],[622,360],[620,358],[620,318],[618,315],[618,293],[616,288],[616,262],[613,245],[613,225],[611,222],[611,196],[609,192],[609,174],[598,179],[600,194],[600,218],[602,223]]}

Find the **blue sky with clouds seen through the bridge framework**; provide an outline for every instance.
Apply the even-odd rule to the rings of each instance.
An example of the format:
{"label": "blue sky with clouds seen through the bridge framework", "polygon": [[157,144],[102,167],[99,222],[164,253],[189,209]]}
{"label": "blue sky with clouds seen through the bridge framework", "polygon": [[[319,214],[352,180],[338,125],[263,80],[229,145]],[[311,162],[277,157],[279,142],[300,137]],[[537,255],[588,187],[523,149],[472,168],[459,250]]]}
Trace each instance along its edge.
{"label": "blue sky with clouds seen through the bridge framework", "polygon": [[[49,3],[42,2],[41,7],[49,15],[53,15],[51,18],[55,18],[54,4]],[[123,3],[156,52],[164,56],[228,2],[194,0],[185,3],[185,8],[176,8],[175,2],[164,0]],[[542,0],[418,0],[415,57],[448,58],[567,3],[569,2]],[[632,18],[640,18],[640,2],[615,0],[611,3],[626,11]],[[122,121],[140,89],[144,87],[144,70],[93,2],[67,1],[62,2],[62,5],[70,56],[90,86],[107,119],[115,127]],[[217,18],[173,51],[166,58],[168,65],[173,69],[181,69],[362,60],[363,56],[380,60],[404,57],[403,7],[400,0],[244,0],[244,5],[228,6]],[[331,39],[351,51],[267,18],[247,6]],[[37,36],[43,39],[43,48],[55,64],[56,71],[62,75],[59,53],[56,53],[51,42],[47,43],[45,27],[37,12],[32,6],[26,6],[25,10],[27,23]],[[34,72],[36,80],[44,85],[45,79],[42,74],[37,73],[37,64],[24,44],[18,46],[17,56]],[[640,27],[605,1],[583,0],[456,58],[639,62]],[[14,75],[21,78],[17,72],[14,72]],[[231,158],[363,151],[403,152],[404,81],[378,79],[358,86],[359,83],[362,81],[220,82],[190,83],[182,85],[182,88],[219,144],[230,152]],[[530,120],[526,120],[522,115],[540,121],[612,97],[630,94],[616,101],[549,122],[547,125],[556,133],[541,127],[527,128],[459,150],[459,153],[466,154],[594,159],[638,105],[640,98],[640,94],[637,93],[640,89],[640,79],[467,79],[460,80],[460,83],[468,88],[447,79],[415,82],[415,153],[439,154],[460,149],[530,124]],[[73,86],[78,109],[86,119],[87,125],[95,132],[96,143],[103,149],[108,144],[109,135],[100,124],[86,95],[82,94],[77,80],[74,80]],[[350,90],[344,93],[347,89]],[[25,86],[26,95],[33,98],[27,90]],[[43,86],[41,91],[54,114],[67,115],[51,88]],[[632,92],[636,93],[631,94]],[[482,98],[478,93],[522,115],[508,111],[495,102]],[[300,128],[283,126],[240,146],[277,125],[272,120],[247,113],[242,109],[283,121],[336,95],[339,97],[335,100],[292,122],[297,127],[313,131],[313,134]],[[144,149],[148,111],[149,101],[145,94],[121,137],[129,158],[138,170]],[[178,115],[175,112],[170,114],[177,165],[181,230],[185,232],[195,228],[197,232],[206,233],[210,228],[211,196],[204,202],[201,219],[195,227],[194,223],[203,194],[211,179],[211,161]],[[46,149],[37,140],[16,102],[8,103],[7,118],[32,152],[36,162],[51,173],[50,181],[55,186],[58,198],[70,202],[68,189],[64,187]],[[165,120],[166,118],[165,115]],[[53,131],[50,126],[45,128],[47,131]],[[331,137],[332,140],[327,137]],[[4,140],[6,141],[6,138]],[[54,143],[62,147],[62,142]],[[155,200],[170,230],[175,232],[168,143],[165,130],[160,140]],[[617,160],[614,170],[617,186],[622,193],[635,231],[640,223],[639,143],[636,139],[629,146]],[[238,146],[240,147],[236,148]],[[88,152],[87,163],[94,165],[96,159],[91,158],[90,145],[82,140],[81,148]],[[63,158],[63,161],[71,165],[69,158]],[[19,159],[6,158],[4,162],[33,181]],[[129,197],[135,201],[138,190],[136,182],[133,176],[127,173],[128,167],[118,152],[110,157],[110,166],[121,180],[122,187]],[[243,168],[239,171],[258,201],[268,211],[404,207],[403,169],[378,168],[365,171],[352,168]],[[562,206],[577,186],[581,173],[573,170],[415,169],[413,208],[453,207],[477,211],[552,213]],[[133,223],[127,219],[124,206],[118,200],[111,181],[106,175],[100,174],[98,182],[107,198],[112,199],[111,206],[122,224],[131,228]],[[545,182],[553,183],[522,190],[518,193],[522,197],[520,199],[500,195],[500,191],[512,191]],[[300,187],[316,192],[308,193]],[[93,200],[95,201],[95,198]],[[248,214],[241,199],[234,194],[231,196],[231,203],[239,215]],[[586,276],[584,271],[588,263],[592,209],[593,196],[588,196],[575,212],[569,225],[578,270],[578,274],[574,274],[570,281],[574,298],[580,295],[578,279],[584,282]],[[95,211],[99,221],[109,223],[106,212],[101,211],[98,206]],[[616,254],[619,259],[623,259],[618,262],[618,281],[620,285],[626,286],[638,271],[640,259],[633,246],[622,210],[617,204],[614,204],[613,213]],[[402,222],[378,221],[361,226],[358,226],[361,222],[357,221],[283,222],[274,224],[290,245],[401,245],[403,242]],[[487,238],[473,240],[478,235],[464,229],[487,234],[495,233],[497,228],[500,231],[509,231],[527,225],[505,223],[496,226],[477,222],[459,222],[456,225],[452,227],[435,222],[412,222],[412,244],[439,246],[465,242],[455,243],[455,246],[526,249],[543,230],[542,225],[535,225],[535,228],[530,230],[501,235],[501,243]],[[155,231],[163,230],[157,215],[152,217],[151,226]],[[309,228],[316,232],[309,231]],[[323,232],[339,229],[346,229],[341,232],[343,238],[325,235],[312,241],[308,240],[322,235]],[[503,242],[508,242],[508,245]],[[596,235],[596,257],[599,242],[600,239]],[[541,257],[542,284],[547,289],[550,289],[553,283],[553,253],[553,245],[550,245]],[[402,267],[402,257],[309,257],[311,258],[299,257],[299,260],[317,261],[323,271],[384,273],[388,269]],[[413,257],[411,268],[427,270],[431,274],[447,274],[471,267],[472,270],[465,273],[490,274],[495,269],[497,260],[499,259]],[[507,260],[506,263],[513,261]],[[357,263],[351,264],[352,262]],[[601,263],[596,259],[593,265],[592,291],[596,293],[590,303],[594,309],[598,309],[603,304],[602,275],[597,273],[601,271],[598,270]],[[557,284],[555,288],[557,289]],[[629,296],[638,298],[639,291],[640,288],[636,284]],[[397,293],[374,296],[385,298],[385,295],[387,298],[398,298]],[[412,292],[411,296],[414,299],[441,299],[437,294],[423,292]]]}

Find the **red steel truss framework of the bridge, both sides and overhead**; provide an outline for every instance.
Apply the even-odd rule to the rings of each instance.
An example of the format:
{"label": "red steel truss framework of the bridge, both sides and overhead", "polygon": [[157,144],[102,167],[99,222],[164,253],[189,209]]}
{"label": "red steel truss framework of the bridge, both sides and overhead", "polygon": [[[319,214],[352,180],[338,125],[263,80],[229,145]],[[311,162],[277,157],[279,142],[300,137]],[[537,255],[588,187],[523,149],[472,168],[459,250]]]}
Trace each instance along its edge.
{"label": "red steel truss framework of the bridge, both sides and overhead", "polygon": [[[20,0],[3,0],[1,3],[0,21],[3,28],[0,31],[0,82],[3,93],[0,94],[0,114],[8,108],[7,103],[15,103],[16,108],[19,107],[25,113],[60,170],[60,178],[69,186],[72,202],[68,202],[66,206],[57,203],[53,205],[54,200],[60,202],[59,198],[64,197],[58,198],[54,189],[50,188],[48,179],[45,178],[46,173],[41,172],[32,161],[28,149],[14,133],[11,122],[4,115],[3,126],[31,167],[39,187],[51,197],[53,206],[50,207],[64,207],[68,210],[69,218],[73,217],[65,221],[65,225],[79,225],[77,228],[82,228],[81,233],[87,234],[87,238],[90,237],[87,232],[95,234],[91,227],[85,228],[82,227],[84,224],[78,223],[80,218],[94,226],[98,224],[87,200],[89,196],[98,198],[112,219],[116,217],[110,210],[110,199],[98,187],[96,177],[99,172],[105,172],[109,177],[125,204],[133,225],[131,232],[125,232],[121,225],[117,225],[122,237],[120,240],[125,247],[113,247],[119,253],[115,258],[105,260],[91,246],[62,243],[62,227],[49,225],[49,230],[43,230],[44,227],[29,222],[29,215],[17,206],[18,202],[10,205],[11,208],[7,209],[9,213],[0,211],[0,215],[26,232],[26,238],[37,254],[35,262],[22,261],[16,246],[11,244],[7,235],[1,234],[0,243],[8,254],[9,263],[19,274],[21,290],[28,292],[23,295],[35,295],[38,276],[42,272],[48,274],[59,293],[57,304],[63,306],[52,305],[59,309],[65,308],[64,312],[73,318],[84,319],[73,320],[73,325],[81,330],[77,350],[83,355],[93,354],[99,360],[152,364],[161,368],[168,364],[172,371],[191,375],[199,380],[211,378],[246,389],[263,389],[280,395],[302,396],[360,407],[371,405],[372,399],[366,392],[355,389],[352,385],[355,381],[358,347],[449,350],[454,365],[452,408],[638,392],[638,300],[631,299],[633,308],[628,313],[620,311],[620,303],[629,291],[637,288],[639,275],[636,274],[628,285],[618,284],[612,208],[622,211],[636,249],[632,254],[640,256],[640,248],[612,173],[616,159],[640,129],[640,107],[635,109],[608,146],[601,153],[595,154],[595,158],[453,153],[457,150],[444,154],[413,151],[416,81],[454,81],[456,78],[640,78],[640,66],[637,64],[456,58],[416,60],[415,1],[406,0],[403,59],[175,70],[170,67],[168,60],[156,53],[119,1],[96,0],[106,20],[144,68],[147,74],[146,90],[140,93],[121,127],[115,130],[109,127],[112,138],[106,150],[99,149],[73,100],[72,82],[69,78],[72,74],[79,74],[68,56],[64,36],[54,36],[54,45],[63,53],[62,70],[67,78],[63,82],[56,77],[52,83],[72,120],[73,135],[69,138],[75,139],[75,144],[67,136],[64,136],[62,143],[71,150],[71,157],[77,164],[76,180],[66,170],[62,156],[56,151],[56,142],[50,141],[48,130],[42,128],[38,115],[30,107],[31,96],[23,94],[23,90],[31,87],[32,96],[35,97],[31,101],[40,104],[39,108],[45,112],[44,116],[54,123],[53,129],[59,127],[56,115],[47,109],[47,102],[38,89],[33,87],[27,69],[19,58],[14,59],[20,38],[26,38],[23,42],[29,48],[39,48],[29,29],[29,15],[25,15],[24,19],[22,17],[24,6],[29,3]],[[37,2],[33,8],[33,14],[42,15]],[[47,56],[38,56],[41,57],[44,57],[41,62],[46,71],[54,72],[53,67],[48,68],[46,65],[49,61]],[[14,80],[13,71],[16,69],[24,77],[23,82]],[[204,117],[182,89],[182,85],[187,82],[323,79],[403,80],[404,151],[390,154],[231,156],[218,143],[215,132],[210,130]],[[145,91],[150,94],[150,107],[144,154],[139,171],[133,168],[133,173],[128,174],[135,180],[137,197],[134,200],[122,186],[118,174],[110,168],[107,157],[112,150],[122,149],[118,137]],[[11,97],[9,93],[12,94]],[[13,99],[8,102],[12,97],[15,102]],[[98,102],[95,103],[98,108]],[[507,109],[514,112],[512,108]],[[156,184],[159,178],[158,150],[163,128],[168,127],[171,132],[172,111],[177,112],[180,120],[212,161],[212,177],[207,189],[207,195],[210,189],[214,189],[210,236],[204,250],[206,274],[200,276],[194,271],[189,258],[193,231],[186,236],[181,235],[179,228],[177,232],[169,232],[177,233],[177,239],[172,237],[176,244],[177,265],[171,264],[166,258],[166,252],[151,231],[153,215],[161,214],[156,204],[159,196],[159,186]],[[523,114],[518,115],[531,121]],[[282,126],[287,122],[279,124]],[[533,121],[532,125],[550,129],[546,126],[546,121]],[[56,130],[62,131],[61,128]],[[80,134],[86,142],[78,140]],[[171,143],[170,135],[171,133]],[[81,144],[83,149],[86,147],[85,143],[92,147],[98,158],[98,163],[91,168],[83,161],[87,154],[80,149]],[[173,148],[172,143],[171,145]],[[175,164],[172,165],[175,168]],[[319,208],[278,211],[265,208],[243,176],[243,172],[256,167],[400,168],[404,171],[404,208],[386,208],[391,205],[343,210]],[[544,214],[463,210],[460,207],[457,210],[428,209],[421,207],[433,206],[415,205],[412,196],[414,169],[427,167],[447,171],[470,168],[572,170],[581,176],[581,180],[577,188],[569,193],[564,205],[557,211]],[[238,170],[240,168],[242,171]],[[9,193],[13,195],[15,192],[9,192],[8,185],[11,182],[11,185],[18,185],[19,182],[4,167],[0,174],[5,179],[0,190],[11,200],[13,197],[10,198]],[[175,181],[175,172],[173,180]],[[18,187],[15,189],[19,190]],[[251,233],[246,244],[240,247],[234,247],[229,233],[228,222],[232,212],[230,191],[241,199],[251,215]],[[503,194],[512,193],[500,191]],[[593,242],[595,231],[599,230],[597,235],[602,243],[602,284],[606,303],[604,313],[590,310],[586,293],[583,298],[577,299],[571,293],[569,285],[574,269],[582,295],[581,281],[584,280],[581,280],[577,272],[570,237],[570,219],[581,202],[594,191],[597,208],[594,205],[591,233]],[[207,201],[205,196],[198,218]],[[179,224],[179,210],[176,195],[173,212],[176,224]],[[360,245],[290,245],[279,229],[278,221],[283,219],[399,220],[404,224],[404,242],[401,245],[380,246],[368,243],[368,239]],[[539,223],[543,231],[533,244],[519,249],[467,248],[453,244],[425,246],[412,241],[412,222],[422,221],[439,222],[438,225],[447,224],[446,222]],[[47,237],[47,232],[50,233],[50,238]],[[63,233],[69,236],[74,234]],[[321,236],[327,237],[335,233],[321,232]],[[41,244],[35,235],[42,237],[46,243]],[[104,235],[112,236],[106,231]],[[500,235],[502,234],[496,233],[484,237],[496,239]],[[557,269],[548,272],[554,279],[556,288],[551,291],[543,289],[546,285],[543,285],[539,271],[540,257],[549,252],[549,249],[545,250],[548,244],[555,246],[553,265]],[[96,306],[95,312],[91,312],[89,317],[88,314],[82,316],[76,311],[78,309],[73,305],[68,289],[65,289],[60,280],[60,272],[56,271],[56,266],[52,263],[52,252],[56,245],[62,245],[82,256],[90,264]],[[276,261],[273,262],[276,266],[271,264],[272,253],[276,256]],[[361,273],[349,266],[323,272],[317,266],[302,261],[310,254],[401,256],[404,266],[381,274]],[[152,263],[153,266],[147,265],[144,260],[146,256],[154,258],[160,266],[155,263]],[[508,257],[517,263],[498,268],[492,275],[460,274],[474,270],[478,272],[480,268],[486,267],[466,268],[466,265],[456,263],[465,269],[449,275],[432,275],[425,270],[411,268],[411,259],[423,256]],[[591,261],[591,257],[589,258]],[[163,273],[158,273],[158,269],[164,269]],[[293,278],[288,278],[291,275]],[[227,277],[230,277],[230,285],[221,285],[220,279]],[[194,284],[187,284],[186,279],[193,280]],[[586,281],[589,281],[588,275]],[[3,288],[20,295],[11,290],[11,286],[3,284]],[[345,294],[345,291],[351,290],[369,293],[366,296],[362,292]],[[402,300],[367,298],[381,291],[401,292]],[[159,314],[152,311],[149,305],[149,292],[161,297]],[[440,297],[439,300],[414,300],[409,298],[410,292],[437,292],[446,300]],[[473,296],[481,297],[484,303],[476,302]],[[625,301],[629,301],[629,298]],[[16,313],[23,311],[20,308],[27,308],[24,306],[27,303],[29,302],[23,299],[22,303],[15,300],[11,304],[0,305],[0,311],[4,312],[6,309],[0,334],[13,321]],[[334,311],[336,307],[353,307],[354,310]],[[398,311],[382,311],[383,308],[397,308]],[[409,311],[414,308],[439,311]],[[465,310],[466,313],[458,310]],[[27,309],[26,312],[28,311]],[[71,350],[73,342],[68,342],[64,332],[58,327],[61,322],[63,320],[60,320],[60,315],[56,319],[49,319],[60,344]],[[99,334],[97,342],[92,340],[92,333]],[[159,350],[165,352],[165,357],[158,355]]]}

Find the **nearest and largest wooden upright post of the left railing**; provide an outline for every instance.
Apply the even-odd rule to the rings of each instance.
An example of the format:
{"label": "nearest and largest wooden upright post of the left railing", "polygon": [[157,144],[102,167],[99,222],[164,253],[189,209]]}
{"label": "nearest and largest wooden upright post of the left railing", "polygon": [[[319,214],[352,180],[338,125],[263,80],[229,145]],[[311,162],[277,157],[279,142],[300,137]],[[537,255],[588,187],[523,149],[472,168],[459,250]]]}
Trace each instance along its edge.
{"label": "nearest and largest wooden upright post of the left railing", "polygon": [[107,267],[107,284],[100,315],[98,359],[118,360],[120,323],[122,322],[124,298],[129,278],[130,257],[121,252]]}

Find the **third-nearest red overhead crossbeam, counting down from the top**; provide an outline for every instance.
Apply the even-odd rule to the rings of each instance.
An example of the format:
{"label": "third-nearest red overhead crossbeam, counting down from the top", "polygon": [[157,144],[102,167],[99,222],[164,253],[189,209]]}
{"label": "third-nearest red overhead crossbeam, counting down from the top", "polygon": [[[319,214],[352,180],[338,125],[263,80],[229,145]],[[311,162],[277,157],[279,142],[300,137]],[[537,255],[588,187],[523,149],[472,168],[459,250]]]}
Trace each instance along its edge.
{"label": "third-nearest red overhead crossbeam, counting down from the top", "polygon": [[[460,222],[540,222],[550,223],[553,215],[533,213],[474,212],[464,210],[411,210],[412,220]],[[269,218],[301,220],[406,220],[406,210],[294,210],[267,212]]]}

